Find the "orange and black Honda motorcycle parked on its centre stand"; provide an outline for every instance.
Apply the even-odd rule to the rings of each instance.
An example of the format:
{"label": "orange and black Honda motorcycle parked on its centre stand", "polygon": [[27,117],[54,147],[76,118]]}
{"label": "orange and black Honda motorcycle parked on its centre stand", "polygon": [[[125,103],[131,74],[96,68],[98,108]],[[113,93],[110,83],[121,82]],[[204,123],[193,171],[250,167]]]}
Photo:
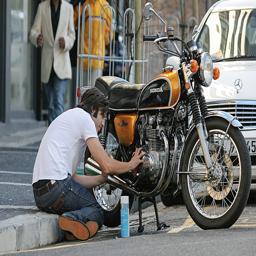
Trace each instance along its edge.
{"label": "orange and black Honda motorcycle parked on its centre stand", "polygon": [[[194,38],[184,42],[174,36],[173,28],[154,11],[151,3],[143,10],[149,20],[155,14],[165,32],[144,35],[160,51],[180,58],[180,69],[163,68],[162,74],[147,84],[129,84],[114,76],[97,78],[95,86],[105,93],[109,110],[99,140],[109,157],[128,162],[135,148],[147,152],[136,170],[108,176],[107,183],[93,188],[93,195],[104,209],[107,227],[120,225],[120,197],[134,196],[139,203],[139,228],[142,232],[141,204],[154,204],[157,229],[168,227],[158,218],[156,196],[168,200],[180,191],[195,223],[202,229],[229,228],[241,215],[251,184],[251,159],[243,128],[236,116],[223,111],[209,112],[203,94],[212,79],[220,75],[213,68],[208,52]],[[176,52],[162,44],[170,41]],[[181,41],[180,52],[175,41]],[[88,87],[78,88],[78,97]],[[89,149],[84,157],[85,174],[99,175],[99,165]]]}

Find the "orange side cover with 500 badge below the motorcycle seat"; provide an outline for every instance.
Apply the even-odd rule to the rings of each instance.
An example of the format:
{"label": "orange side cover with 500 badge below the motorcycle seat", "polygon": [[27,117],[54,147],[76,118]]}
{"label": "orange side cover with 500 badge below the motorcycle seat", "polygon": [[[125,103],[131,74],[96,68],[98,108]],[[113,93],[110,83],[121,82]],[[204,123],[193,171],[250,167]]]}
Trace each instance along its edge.
{"label": "orange side cover with 500 badge below the motorcycle seat", "polygon": [[130,146],[134,139],[135,122],[139,115],[119,114],[115,116],[115,128],[118,139],[124,146]]}

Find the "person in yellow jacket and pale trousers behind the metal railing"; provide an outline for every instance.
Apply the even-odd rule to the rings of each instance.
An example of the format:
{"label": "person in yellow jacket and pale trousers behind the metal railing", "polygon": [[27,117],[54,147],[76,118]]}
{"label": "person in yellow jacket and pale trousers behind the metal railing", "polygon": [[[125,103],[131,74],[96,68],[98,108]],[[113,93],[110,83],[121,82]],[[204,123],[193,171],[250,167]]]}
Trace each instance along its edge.
{"label": "person in yellow jacket and pale trousers behind the metal railing", "polygon": [[[83,85],[94,86],[95,80],[102,76],[102,68],[104,67],[104,60],[101,60],[101,56],[105,56],[106,46],[110,44],[110,41],[113,40],[113,28],[112,25],[112,33],[111,33],[111,10],[106,5],[108,2],[106,0],[86,0],[84,4],[81,5],[80,16],[82,22],[82,13],[83,8],[86,4],[89,4],[92,10],[92,55],[100,56],[99,63],[98,58],[92,59],[90,58],[90,65],[92,69],[92,75],[90,79],[90,67],[88,67],[88,59],[84,58],[84,74],[83,74]],[[105,6],[104,6],[105,5]],[[103,7],[103,8],[102,8]],[[101,9],[102,8],[102,9]],[[105,13],[104,13],[104,10]],[[100,24],[100,15],[101,15],[101,24]],[[77,29],[79,19],[79,5],[76,5],[74,10],[74,24]],[[103,26],[104,20],[104,26]],[[100,38],[99,38],[100,32]],[[111,40],[110,40],[111,33]],[[82,24],[80,23],[80,43],[82,42]],[[99,47],[100,46],[100,47]],[[80,52],[80,51],[79,51]],[[85,24],[84,24],[84,54],[89,54],[89,8],[86,8],[85,12]],[[79,62],[80,65],[80,62]],[[88,84],[88,75],[89,75],[89,83]]]}

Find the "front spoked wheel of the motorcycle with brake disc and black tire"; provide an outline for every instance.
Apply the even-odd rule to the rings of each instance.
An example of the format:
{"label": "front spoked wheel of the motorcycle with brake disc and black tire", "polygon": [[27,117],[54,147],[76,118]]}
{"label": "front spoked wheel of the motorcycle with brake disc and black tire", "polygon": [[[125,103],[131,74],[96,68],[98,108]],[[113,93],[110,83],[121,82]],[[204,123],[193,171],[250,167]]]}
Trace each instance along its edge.
{"label": "front spoked wheel of the motorcycle with brake disc and black tire", "polygon": [[[196,129],[185,142],[181,171],[201,171],[201,174],[182,174],[181,189],[188,213],[202,229],[229,228],[239,218],[247,202],[251,185],[251,158],[241,131],[223,118],[205,120],[207,146],[215,176],[207,174],[200,140]],[[220,148],[221,142],[224,144]],[[202,174],[205,172],[205,174]]]}

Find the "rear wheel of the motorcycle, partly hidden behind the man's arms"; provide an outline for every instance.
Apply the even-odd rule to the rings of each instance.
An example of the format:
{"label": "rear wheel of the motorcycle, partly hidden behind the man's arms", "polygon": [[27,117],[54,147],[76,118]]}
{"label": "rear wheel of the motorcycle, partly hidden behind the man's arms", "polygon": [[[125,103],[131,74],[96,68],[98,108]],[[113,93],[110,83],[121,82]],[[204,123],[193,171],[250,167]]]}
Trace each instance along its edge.
{"label": "rear wheel of the motorcycle, partly hidden behind the man's arms", "polygon": [[[99,133],[99,140],[101,133]],[[106,143],[106,153],[109,157],[115,158],[118,161],[123,161],[122,155],[117,153],[117,135],[113,126],[110,124]],[[117,154],[116,154],[117,153]],[[89,148],[87,147],[84,154],[84,163],[91,157]],[[120,188],[116,188],[108,183],[92,188],[92,195],[95,197],[100,206],[104,209],[104,225],[108,228],[115,228],[121,224],[120,215],[120,198],[121,196],[129,196],[129,209],[132,209],[134,196]]]}

